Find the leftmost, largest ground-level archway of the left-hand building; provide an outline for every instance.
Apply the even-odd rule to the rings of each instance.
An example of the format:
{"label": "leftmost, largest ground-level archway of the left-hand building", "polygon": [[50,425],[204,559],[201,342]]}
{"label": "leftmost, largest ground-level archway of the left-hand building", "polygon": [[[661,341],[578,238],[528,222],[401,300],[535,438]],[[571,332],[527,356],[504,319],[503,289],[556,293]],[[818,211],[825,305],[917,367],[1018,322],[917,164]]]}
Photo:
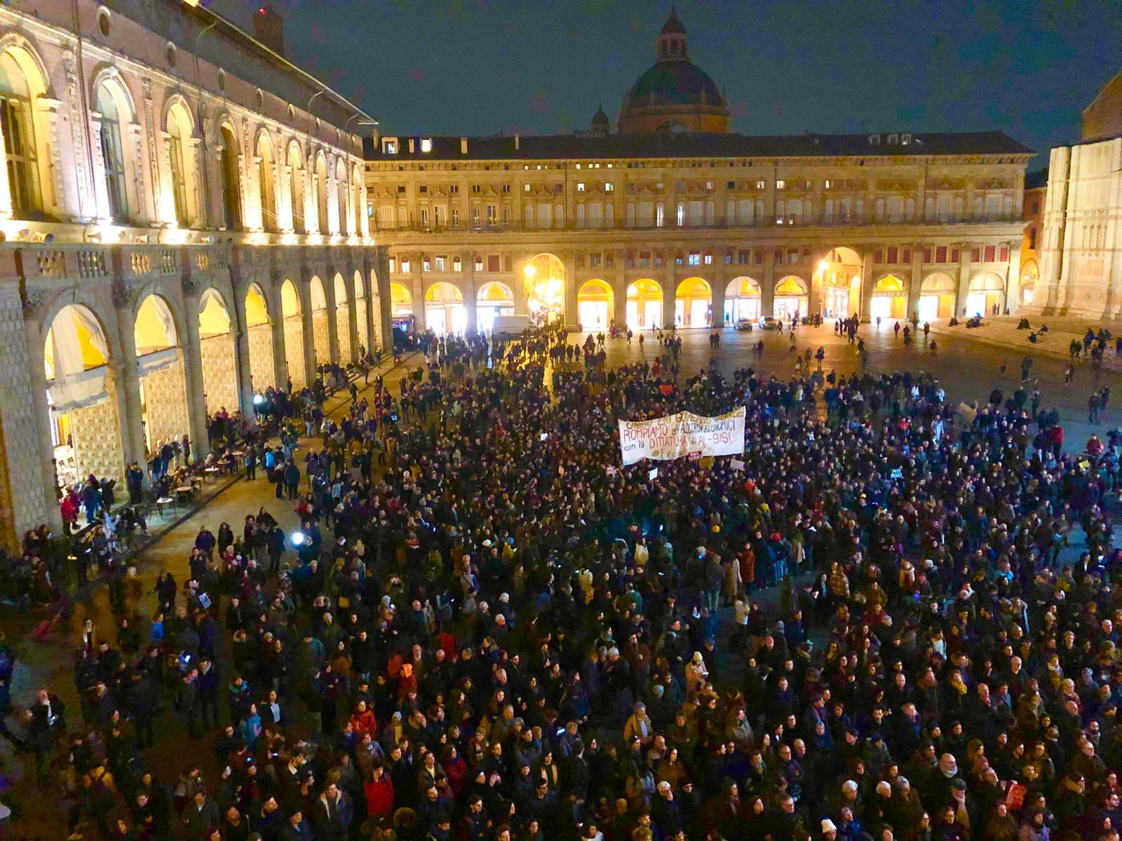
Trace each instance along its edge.
{"label": "leftmost, largest ground-level archway of the left-hand building", "polygon": [[55,478],[68,488],[91,473],[125,475],[117,388],[105,331],[92,309],[68,304],[47,329],[43,349]]}

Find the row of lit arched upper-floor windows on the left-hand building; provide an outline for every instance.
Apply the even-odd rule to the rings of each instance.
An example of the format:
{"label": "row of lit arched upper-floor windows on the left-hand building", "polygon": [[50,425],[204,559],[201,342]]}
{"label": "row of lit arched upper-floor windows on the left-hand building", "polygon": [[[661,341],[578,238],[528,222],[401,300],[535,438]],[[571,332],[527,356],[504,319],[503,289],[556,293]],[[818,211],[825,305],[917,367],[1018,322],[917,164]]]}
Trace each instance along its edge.
{"label": "row of lit arched upper-floor windows on the left-hand building", "polygon": [[[36,101],[46,96],[42,63],[27,46],[8,46],[0,53],[0,133],[11,213],[39,219],[62,204],[52,201],[53,131]],[[351,172],[342,156],[318,150],[310,161],[300,142],[291,139],[282,156],[265,129],[243,156],[230,119],[217,123],[211,151],[203,155],[197,122],[187,101],[174,96],[166,108],[159,137],[158,173],[150,173],[154,195],[146,196],[141,175],[140,124],[132,98],[114,71],[95,77],[91,96],[94,193],[99,216],[118,224],[174,222],[181,228],[224,228],[300,233],[360,233],[362,175]],[[283,160],[278,161],[278,157]],[[332,172],[333,167],[333,172]],[[220,182],[221,202],[212,207],[209,182]],[[330,206],[329,178],[335,182],[335,204]],[[45,197],[46,191],[46,197]],[[248,195],[257,201],[247,201]],[[259,207],[259,219],[255,209]],[[331,211],[335,212],[332,224]],[[217,216],[217,218],[215,218]]]}

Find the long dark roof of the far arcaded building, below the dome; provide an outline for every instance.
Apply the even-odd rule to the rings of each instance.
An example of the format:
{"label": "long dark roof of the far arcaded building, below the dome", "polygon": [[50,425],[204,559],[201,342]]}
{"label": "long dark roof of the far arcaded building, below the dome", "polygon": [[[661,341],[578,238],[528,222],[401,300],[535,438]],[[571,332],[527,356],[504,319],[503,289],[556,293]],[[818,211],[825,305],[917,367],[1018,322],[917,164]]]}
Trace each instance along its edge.
{"label": "long dark roof of the far arcaded building, below the dome", "polygon": [[[749,137],[732,133],[659,135],[491,135],[463,138],[416,136],[410,151],[408,136],[398,138],[396,154],[364,140],[367,160],[543,160],[569,158],[682,158],[682,157],[827,157],[929,155],[1033,155],[1033,149],[1002,131],[956,133],[788,135]],[[429,151],[422,151],[427,148]]]}

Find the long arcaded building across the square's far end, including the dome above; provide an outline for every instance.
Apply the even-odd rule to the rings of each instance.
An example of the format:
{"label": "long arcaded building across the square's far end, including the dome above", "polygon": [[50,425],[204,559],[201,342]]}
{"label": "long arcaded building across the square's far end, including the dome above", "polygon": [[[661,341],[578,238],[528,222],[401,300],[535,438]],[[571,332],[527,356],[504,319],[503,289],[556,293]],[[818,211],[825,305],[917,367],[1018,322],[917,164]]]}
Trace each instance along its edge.
{"label": "long arcaded building across the square's far end, including the dome above", "polygon": [[601,109],[574,135],[376,137],[395,317],[600,330],[1018,305],[1032,150],[1005,135],[730,133],[673,13],[618,129]]}

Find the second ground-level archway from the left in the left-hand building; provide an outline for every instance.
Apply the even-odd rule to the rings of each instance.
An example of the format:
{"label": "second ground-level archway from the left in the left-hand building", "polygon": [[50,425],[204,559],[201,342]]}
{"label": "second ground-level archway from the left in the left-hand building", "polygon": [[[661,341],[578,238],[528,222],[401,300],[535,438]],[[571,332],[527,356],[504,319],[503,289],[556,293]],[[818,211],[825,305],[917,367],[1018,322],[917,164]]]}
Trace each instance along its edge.
{"label": "second ground-level archway from the left in the left-hand building", "polygon": [[134,340],[140,373],[145,442],[148,452],[155,453],[165,443],[182,442],[190,432],[180,331],[164,297],[153,294],[141,302],[134,324]]}

